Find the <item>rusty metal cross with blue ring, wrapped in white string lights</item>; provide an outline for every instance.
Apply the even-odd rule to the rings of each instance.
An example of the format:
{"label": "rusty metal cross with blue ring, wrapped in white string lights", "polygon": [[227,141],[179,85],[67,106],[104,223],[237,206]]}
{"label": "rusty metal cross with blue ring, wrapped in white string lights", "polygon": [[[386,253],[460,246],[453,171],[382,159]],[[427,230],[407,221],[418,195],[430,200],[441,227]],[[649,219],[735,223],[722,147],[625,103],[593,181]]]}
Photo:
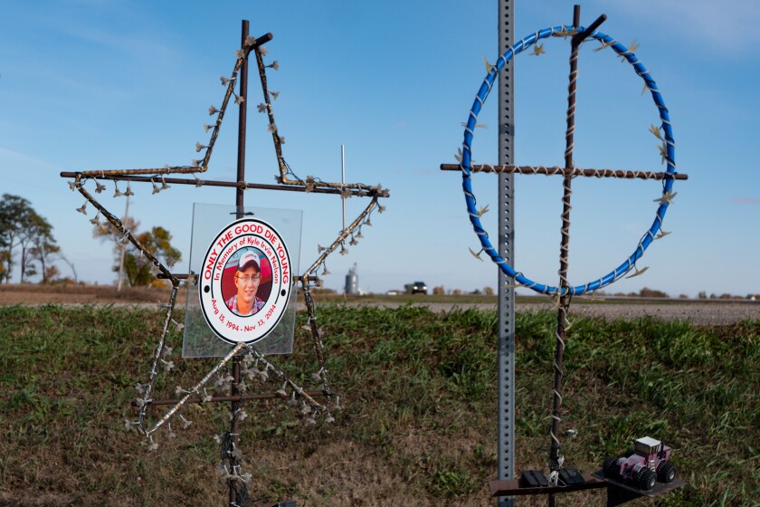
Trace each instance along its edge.
{"label": "rusty metal cross with blue ring, wrapped in white string lights", "polygon": [[[673,183],[675,180],[687,179],[687,175],[676,173],[675,166],[675,142],[673,140],[672,126],[670,124],[670,117],[665,103],[662,99],[660,91],[657,88],[657,84],[651,78],[650,73],[646,70],[643,64],[638,60],[631,48],[627,48],[622,43],[617,42],[609,35],[597,31],[599,25],[601,25],[606,16],[602,14],[593,24],[587,28],[580,25],[580,6],[575,5],[574,19],[572,25],[560,25],[551,28],[540,30],[536,33],[531,33],[522,40],[514,43],[508,50],[499,56],[499,60],[494,65],[488,65],[489,72],[480,85],[475,101],[470,109],[470,115],[464,128],[464,141],[462,148],[457,155],[457,159],[460,162],[458,165],[454,164],[442,164],[443,170],[460,170],[462,176],[462,190],[467,205],[468,215],[470,216],[470,223],[478,235],[481,244],[481,250],[478,253],[472,252],[476,257],[480,258],[480,253],[487,253],[491,260],[499,266],[502,273],[506,274],[509,279],[512,280],[515,287],[527,287],[535,292],[546,294],[551,297],[556,297],[557,302],[557,320],[556,320],[556,354],[554,362],[555,378],[553,386],[553,407],[551,412],[552,425],[550,430],[551,444],[548,451],[548,461],[551,474],[549,475],[549,488],[544,491],[536,493],[549,493],[549,502],[553,504],[553,493],[559,491],[574,491],[574,488],[556,488],[559,472],[562,469],[562,465],[565,461],[565,457],[561,454],[561,444],[559,441],[559,426],[562,420],[562,387],[563,387],[563,356],[565,352],[565,332],[569,329],[569,322],[567,320],[567,311],[570,307],[570,300],[575,295],[581,295],[585,292],[594,292],[601,289],[617,280],[620,280],[631,270],[635,273],[629,275],[636,276],[643,273],[647,268],[639,270],[636,268],[636,261],[638,261],[643,255],[644,251],[655,239],[669,234],[662,230],[662,222],[665,217],[665,212],[670,205],[673,197],[676,193],[673,192]],[[526,51],[529,47],[533,46],[533,54],[544,53],[543,45],[538,44],[539,41],[549,37],[570,37],[571,53],[570,53],[570,74],[569,85],[567,94],[567,114],[566,114],[566,129],[565,129],[565,167],[543,167],[543,166],[516,166],[516,165],[502,165],[502,166],[490,166],[490,165],[473,165],[472,164],[472,141],[475,137],[475,129],[479,127],[477,124],[478,114],[482,109],[486,99],[489,96],[494,82],[499,76],[499,71],[514,58],[518,53]],[[645,91],[651,92],[651,97],[654,100],[655,106],[659,110],[660,114],[660,128],[651,127],[651,132],[657,139],[661,141],[660,156],[662,162],[667,164],[667,169],[664,172],[655,171],[638,171],[638,170],[620,170],[620,169],[597,169],[597,168],[579,168],[575,167],[573,162],[573,149],[574,149],[574,134],[575,134],[575,90],[576,80],[578,76],[578,48],[584,43],[586,39],[594,39],[601,43],[601,47],[597,49],[611,48],[618,56],[624,61],[629,62],[634,71],[644,81]],[[484,230],[480,222],[480,217],[485,212],[485,209],[478,210],[476,206],[475,194],[471,185],[471,174],[473,172],[486,172],[486,173],[499,173],[499,174],[525,174],[525,175],[557,175],[563,177],[563,197],[562,197],[562,226],[561,226],[561,242],[559,252],[559,284],[557,286],[546,285],[527,278],[523,273],[515,270],[514,267],[508,264],[508,262],[499,256],[499,252],[490,243],[489,234]],[[618,177],[628,179],[656,179],[662,182],[661,196],[655,199],[658,203],[657,212],[651,227],[643,234],[641,240],[636,245],[633,253],[619,266],[614,268],[610,273],[604,274],[599,279],[592,282],[586,282],[581,285],[571,285],[567,280],[567,268],[568,268],[568,246],[570,241],[570,197],[572,194],[571,182],[575,177]],[[602,487],[602,484],[595,487]],[[586,484],[589,487],[590,484]],[[592,486],[594,487],[594,486]],[[516,490],[509,490],[506,488],[494,489],[492,493],[494,496],[508,496],[516,494]],[[583,489],[583,488],[575,488]],[[526,494],[526,493],[517,493]]]}

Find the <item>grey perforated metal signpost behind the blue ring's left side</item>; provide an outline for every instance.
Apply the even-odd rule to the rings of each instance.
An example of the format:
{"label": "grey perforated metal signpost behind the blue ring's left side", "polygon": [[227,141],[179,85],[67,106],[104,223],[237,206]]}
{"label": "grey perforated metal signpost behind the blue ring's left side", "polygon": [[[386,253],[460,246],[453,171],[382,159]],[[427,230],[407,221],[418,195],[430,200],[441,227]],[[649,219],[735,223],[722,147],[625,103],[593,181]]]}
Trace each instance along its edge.
{"label": "grey perforated metal signpost behind the blue ring's left side", "polygon": [[[514,43],[514,0],[499,0],[499,54]],[[515,121],[514,59],[499,74],[499,164],[513,164]],[[499,255],[515,265],[513,213],[514,175],[499,174]],[[499,480],[515,476],[515,290],[512,281],[499,269]],[[512,507],[514,497],[499,497],[499,507]]]}

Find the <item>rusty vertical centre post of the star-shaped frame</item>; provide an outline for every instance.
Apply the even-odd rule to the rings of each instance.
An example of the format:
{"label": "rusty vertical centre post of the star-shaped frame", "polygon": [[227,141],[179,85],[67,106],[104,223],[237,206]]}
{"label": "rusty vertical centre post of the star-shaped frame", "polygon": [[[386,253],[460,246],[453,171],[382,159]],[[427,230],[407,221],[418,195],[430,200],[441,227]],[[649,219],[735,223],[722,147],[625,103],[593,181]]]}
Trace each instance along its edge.
{"label": "rusty vertical centre post of the star-shaped frame", "polygon": [[[241,28],[241,43],[240,47],[245,48],[245,40],[248,38],[248,20],[244,19],[242,20],[242,28]],[[248,94],[248,57],[246,56],[243,58],[242,65],[240,68],[240,74],[238,74],[238,80],[240,84],[240,88],[238,90],[238,94],[242,98],[241,104],[240,104],[240,113],[238,116],[238,158],[237,158],[237,181],[239,187],[235,190],[235,215],[237,218],[242,218],[243,216],[243,197],[245,193],[245,188],[241,185],[241,183],[245,182],[245,122],[246,122],[246,112],[248,110],[248,100],[246,100],[246,95]],[[238,385],[241,381],[241,373],[240,373],[240,357],[235,356],[233,358],[233,386],[231,388],[231,396],[233,397],[239,397],[240,391],[238,390]],[[233,448],[237,449],[238,445],[240,445],[240,423],[238,421],[237,412],[240,409],[241,402],[240,400],[233,401],[231,403],[230,407],[230,415],[232,416],[232,422],[230,423],[230,436],[233,441]],[[235,465],[237,465],[237,458],[234,456],[228,456],[230,460],[230,467],[233,468]],[[232,472],[232,471],[231,471]],[[240,501],[242,499],[238,498],[237,491],[235,490],[235,484],[233,480],[228,481],[227,484],[229,488],[229,504],[231,506],[233,505],[239,505]]]}

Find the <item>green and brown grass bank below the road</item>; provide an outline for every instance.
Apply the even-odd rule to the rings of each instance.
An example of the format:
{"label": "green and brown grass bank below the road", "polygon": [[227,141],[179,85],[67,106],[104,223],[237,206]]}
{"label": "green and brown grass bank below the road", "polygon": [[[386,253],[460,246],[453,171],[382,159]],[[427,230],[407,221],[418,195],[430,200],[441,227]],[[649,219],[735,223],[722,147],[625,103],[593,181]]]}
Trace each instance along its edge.
{"label": "green and brown grass bank below the road", "polygon": [[[275,360],[314,388],[302,320],[296,353]],[[518,470],[546,464],[555,322],[549,312],[517,316]],[[248,405],[241,438],[252,496],[308,505],[492,505],[496,312],[322,305],[318,323],[345,407],[335,425],[307,427],[280,402]],[[175,440],[159,435],[155,453],[124,430],[159,326],[149,310],[0,308],[0,504],[224,504],[212,436],[228,425],[226,406],[186,410],[193,426],[175,428]],[[176,350],[180,341],[169,337]],[[756,504],[758,345],[758,321],[574,320],[562,427],[578,435],[563,437],[567,464],[594,471],[632,438],[651,435],[674,448],[688,483],[653,504]],[[174,359],[176,373],[157,385],[163,397],[214,364]],[[529,502],[518,504],[546,500]],[[603,505],[603,493],[560,504]]]}

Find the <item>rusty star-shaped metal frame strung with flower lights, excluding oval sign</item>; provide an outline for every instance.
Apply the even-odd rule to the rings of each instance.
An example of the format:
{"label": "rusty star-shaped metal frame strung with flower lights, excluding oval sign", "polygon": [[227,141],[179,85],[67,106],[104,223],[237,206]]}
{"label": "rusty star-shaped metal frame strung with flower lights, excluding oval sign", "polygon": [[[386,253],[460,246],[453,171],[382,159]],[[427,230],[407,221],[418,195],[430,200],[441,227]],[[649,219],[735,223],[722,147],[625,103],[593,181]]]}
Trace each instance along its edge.
{"label": "rusty star-shaped metal frame strung with flower lights, excluding oval sign", "polygon": [[[86,202],[77,210],[83,215],[87,215],[86,206],[90,204],[97,210],[97,215],[90,219],[90,223],[93,225],[100,225],[100,215],[105,217],[107,223],[112,228],[112,231],[119,238],[119,242],[122,247],[126,247],[126,244],[132,244],[133,247],[139,252],[142,262],[150,265],[151,273],[168,280],[171,283],[171,294],[169,301],[163,305],[166,308],[166,313],[163,317],[163,324],[161,327],[160,336],[157,340],[157,346],[153,355],[152,365],[150,373],[147,378],[147,382],[138,385],[139,397],[133,400],[133,407],[138,407],[138,419],[136,421],[127,421],[126,426],[137,427],[138,431],[147,437],[148,450],[155,450],[157,448],[157,442],[154,441],[154,435],[158,429],[165,427],[167,433],[171,436],[174,433],[171,430],[170,420],[174,416],[178,416],[183,421],[183,426],[189,426],[190,421],[185,419],[181,414],[181,410],[187,404],[200,404],[200,403],[216,403],[216,402],[229,402],[231,403],[230,409],[230,430],[226,432],[219,439],[222,445],[223,465],[220,467],[222,478],[228,484],[229,488],[229,505],[242,506],[246,505],[250,497],[247,491],[247,483],[251,481],[251,474],[242,474],[241,456],[242,453],[239,447],[239,433],[240,422],[245,418],[246,414],[242,409],[242,402],[252,400],[266,400],[266,399],[282,399],[287,401],[289,405],[301,407],[301,414],[307,423],[315,423],[317,416],[324,416],[326,422],[331,422],[333,417],[330,415],[330,410],[337,410],[338,397],[333,391],[328,378],[328,368],[325,364],[324,346],[322,343],[322,335],[317,325],[316,308],[311,296],[310,286],[314,282],[319,282],[317,270],[319,267],[324,268],[322,274],[328,274],[325,261],[330,253],[335,252],[338,248],[341,254],[347,253],[346,244],[354,245],[357,243],[357,239],[362,237],[361,228],[363,225],[370,226],[370,215],[375,209],[382,213],[384,206],[378,204],[378,199],[388,197],[388,191],[381,187],[369,186],[365,184],[354,183],[332,183],[322,181],[317,177],[297,177],[294,172],[288,166],[285,158],[282,155],[282,145],[285,139],[280,136],[279,129],[274,122],[274,113],[271,106],[271,100],[277,99],[280,92],[270,91],[267,86],[266,70],[273,69],[278,70],[279,63],[273,61],[269,64],[264,64],[263,57],[267,54],[267,49],[264,44],[270,42],[272,39],[271,33],[266,33],[259,38],[253,38],[249,36],[249,22],[242,21],[242,43],[241,48],[235,53],[236,61],[233,68],[232,75],[230,77],[223,76],[221,78],[222,85],[225,89],[222,105],[219,109],[213,105],[209,108],[208,112],[210,116],[215,117],[215,121],[211,125],[204,125],[206,132],[211,131],[211,137],[206,145],[201,143],[195,143],[195,151],[200,153],[204,151],[204,157],[198,160],[193,160],[191,166],[165,166],[163,168],[145,168],[145,169],[119,169],[119,170],[89,170],[89,171],[64,171],[61,173],[61,177],[73,178],[73,181],[69,182],[71,190],[78,191],[81,196],[84,196]],[[258,105],[257,109],[261,113],[266,113],[268,118],[268,130],[271,133],[272,142],[274,144],[277,163],[279,168],[279,175],[275,177],[276,185],[265,185],[259,183],[251,183],[245,181],[245,137],[246,137],[246,124],[247,124],[247,106],[248,106],[248,59],[253,55],[255,58],[258,70],[259,78],[261,80],[261,91],[263,94],[263,101]],[[238,86],[238,91],[235,93],[235,86]],[[234,97],[234,103],[240,106],[239,124],[238,124],[238,152],[237,152],[237,179],[236,181],[218,181],[210,179],[201,179],[197,176],[198,173],[204,173],[209,167],[209,161],[214,150],[214,143],[219,135],[220,128],[224,113],[227,110],[227,106],[230,100]],[[191,175],[188,177],[170,177],[169,175]],[[354,221],[345,225],[340,230],[337,238],[328,247],[318,246],[318,257],[309,268],[301,275],[296,276],[296,273],[291,273],[289,283],[295,284],[300,282],[304,301],[307,309],[307,327],[312,337],[315,355],[318,361],[318,371],[312,374],[312,380],[318,384],[317,391],[307,391],[304,387],[299,386],[295,381],[289,378],[284,371],[277,368],[269,359],[266,359],[263,354],[255,347],[256,340],[246,341],[244,339],[236,340],[237,343],[229,350],[226,355],[223,356],[215,366],[212,368],[204,378],[200,379],[195,386],[183,389],[177,387],[176,398],[171,399],[153,399],[155,394],[155,383],[157,376],[160,373],[160,369],[165,369],[166,372],[174,367],[174,361],[168,360],[169,354],[171,354],[171,347],[167,344],[167,336],[169,328],[174,322],[177,330],[182,330],[183,325],[176,322],[173,319],[177,292],[182,281],[192,285],[197,284],[198,276],[195,273],[174,273],[171,265],[165,265],[157,258],[157,255],[151,253],[146,245],[141,244],[138,239],[138,234],[135,231],[130,231],[128,227],[119,220],[119,217],[111,213],[106,206],[100,204],[99,200],[95,198],[90,191],[85,188],[85,185],[90,181],[95,184],[95,193],[100,194],[106,189],[99,181],[110,180],[114,182],[115,192],[113,197],[119,196],[132,196],[134,195],[130,183],[143,182],[150,183],[153,186],[153,194],[157,194],[167,188],[170,185],[189,185],[195,187],[230,187],[235,189],[235,212],[234,215],[238,220],[241,220],[246,215],[243,206],[244,191],[252,188],[262,190],[280,190],[280,191],[296,191],[307,192],[314,194],[332,194],[339,195],[342,199],[347,199],[351,196],[370,197],[370,203],[364,210],[356,216]],[[127,182],[127,189],[125,192],[119,190],[119,182]],[[159,185],[160,184],[160,185]],[[253,222],[253,221],[252,221]],[[349,241],[350,238],[350,241]],[[281,280],[280,282],[286,282]],[[204,284],[201,284],[200,290],[204,290]],[[288,291],[282,288],[281,292],[286,294]],[[188,292],[188,296],[190,292]],[[292,301],[292,300],[291,300]],[[261,337],[257,337],[257,340]],[[227,363],[232,364],[232,374],[223,375],[223,368]],[[263,370],[259,370],[259,368]],[[245,372],[249,378],[258,378],[261,381],[266,380],[271,375],[275,378],[279,378],[282,382],[282,387],[276,393],[257,393],[248,394],[246,392],[242,373]],[[223,387],[229,389],[229,395],[217,395],[212,396],[206,391],[206,386],[214,379],[217,379],[217,384],[221,384]],[[324,397],[326,401],[320,402],[317,400],[319,397]],[[149,407],[158,406],[170,406],[170,408],[161,416],[157,422],[150,424],[147,417],[147,410]]]}

